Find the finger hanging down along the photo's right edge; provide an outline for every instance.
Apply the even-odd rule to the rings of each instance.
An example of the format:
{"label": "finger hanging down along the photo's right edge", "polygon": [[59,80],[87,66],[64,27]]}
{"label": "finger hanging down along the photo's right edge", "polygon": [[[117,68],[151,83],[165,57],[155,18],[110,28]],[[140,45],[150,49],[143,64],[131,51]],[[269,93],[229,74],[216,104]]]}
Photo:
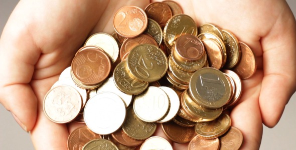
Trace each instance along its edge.
{"label": "finger hanging down along the photo's right edge", "polygon": [[263,122],[268,127],[279,121],[296,89],[296,23],[287,4],[283,5],[273,28],[261,40],[264,78],[259,104]]}

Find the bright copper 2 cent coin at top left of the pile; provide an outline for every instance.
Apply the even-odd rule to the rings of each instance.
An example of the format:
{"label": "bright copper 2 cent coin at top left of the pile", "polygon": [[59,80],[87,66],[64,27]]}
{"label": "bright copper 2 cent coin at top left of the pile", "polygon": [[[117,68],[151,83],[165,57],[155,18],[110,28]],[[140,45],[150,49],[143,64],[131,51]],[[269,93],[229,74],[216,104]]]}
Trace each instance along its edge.
{"label": "bright copper 2 cent coin at top left of the pile", "polygon": [[147,27],[148,18],[145,11],[137,6],[121,7],[114,15],[115,31],[124,37],[132,38],[141,34]]}

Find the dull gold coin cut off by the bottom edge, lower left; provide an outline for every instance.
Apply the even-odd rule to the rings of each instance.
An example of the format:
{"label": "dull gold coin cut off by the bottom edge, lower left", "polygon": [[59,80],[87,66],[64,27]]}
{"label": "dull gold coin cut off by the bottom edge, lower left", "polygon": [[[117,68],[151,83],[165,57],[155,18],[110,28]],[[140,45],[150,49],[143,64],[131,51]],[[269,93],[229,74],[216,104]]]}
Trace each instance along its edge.
{"label": "dull gold coin cut off by the bottom edge, lower left", "polygon": [[117,148],[117,146],[107,140],[107,139],[93,139],[91,141],[89,141],[88,143],[86,143],[84,145],[84,147],[82,148],[82,150],[91,150],[91,149],[109,149],[109,150],[119,150]]}

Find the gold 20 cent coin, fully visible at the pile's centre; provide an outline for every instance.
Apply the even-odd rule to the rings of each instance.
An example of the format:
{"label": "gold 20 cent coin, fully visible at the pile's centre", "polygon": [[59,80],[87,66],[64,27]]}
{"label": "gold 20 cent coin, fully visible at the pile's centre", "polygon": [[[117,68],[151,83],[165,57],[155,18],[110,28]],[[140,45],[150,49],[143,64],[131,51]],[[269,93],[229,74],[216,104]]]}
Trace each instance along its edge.
{"label": "gold 20 cent coin, fully visible at the pile's centre", "polygon": [[130,73],[137,79],[153,82],[165,75],[168,59],[162,49],[152,44],[135,46],[126,60]]}

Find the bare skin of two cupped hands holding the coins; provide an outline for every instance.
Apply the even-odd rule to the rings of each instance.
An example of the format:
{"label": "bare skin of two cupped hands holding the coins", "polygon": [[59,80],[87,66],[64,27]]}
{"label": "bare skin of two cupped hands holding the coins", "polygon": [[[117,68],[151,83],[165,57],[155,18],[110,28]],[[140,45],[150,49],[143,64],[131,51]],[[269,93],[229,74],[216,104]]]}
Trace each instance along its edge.
{"label": "bare skin of two cupped hands holding the coins", "polygon": [[[66,149],[79,125],[57,124],[43,112],[51,85],[84,40],[111,34],[113,15],[124,5],[144,8],[149,0],[21,0],[0,38],[0,102],[30,131],[36,149]],[[257,71],[243,80],[243,93],[230,115],[244,137],[241,149],[258,149],[262,123],[273,127],[295,92],[296,23],[284,0],[179,0],[200,25],[229,29],[256,55]],[[12,94],[13,93],[13,94]],[[81,125],[81,124],[80,124]],[[57,136],[58,135],[58,136]],[[158,129],[156,135],[164,136]],[[186,144],[173,143],[175,149]]]}

